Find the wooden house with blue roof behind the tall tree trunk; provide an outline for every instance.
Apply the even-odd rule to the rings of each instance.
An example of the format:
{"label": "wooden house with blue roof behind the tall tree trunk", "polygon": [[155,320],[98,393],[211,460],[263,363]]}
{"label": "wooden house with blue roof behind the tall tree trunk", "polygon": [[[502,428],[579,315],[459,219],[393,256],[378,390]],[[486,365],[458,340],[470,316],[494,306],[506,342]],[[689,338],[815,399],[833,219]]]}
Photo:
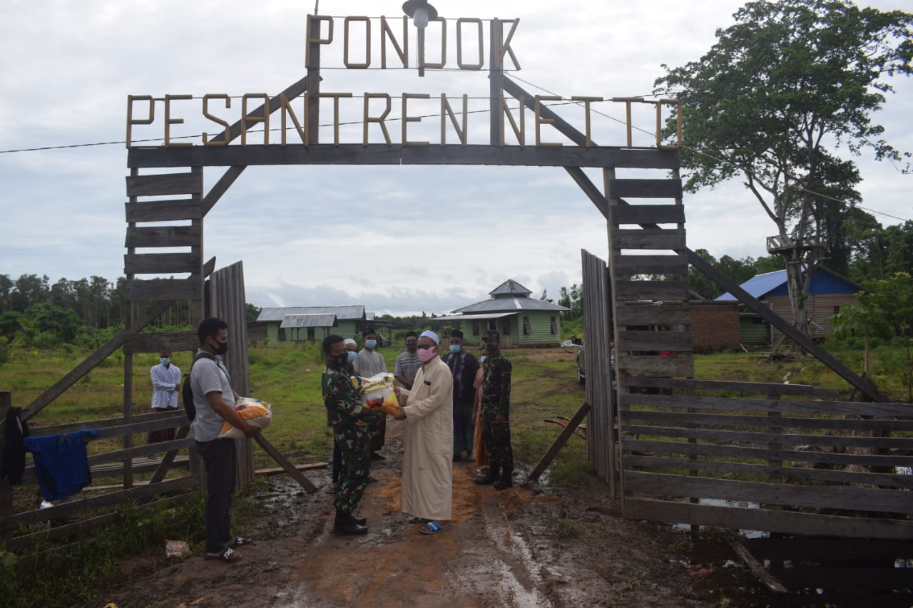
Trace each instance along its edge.
{"label": "wooden house with blue roof behind the tall tree trunk", "polygon": [[[753,298],[767,304],[783,319],[792,321],[792,305],[789,288],[786,285],[786,270],[766,272],[752,277],[740,285]],[[829,336],[834,327],[827,321],[844,304],[855,303],[856,294],[862,286],[828,270],[818,267],[809,286],[809,297],[805,302],[808,309],[812,338]],[[736,301],[728,291],[715,301]],[[756,313],[740,312],[739,336],[743,344],[771,344],[780,338],[780,331],[771,327]]]}

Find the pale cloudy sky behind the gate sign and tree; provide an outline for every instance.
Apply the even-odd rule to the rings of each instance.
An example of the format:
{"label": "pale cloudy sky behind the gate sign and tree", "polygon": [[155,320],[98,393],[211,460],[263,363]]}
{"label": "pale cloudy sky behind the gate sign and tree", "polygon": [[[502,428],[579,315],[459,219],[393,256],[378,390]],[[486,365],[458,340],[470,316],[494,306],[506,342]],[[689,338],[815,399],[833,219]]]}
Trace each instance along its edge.
{"label": "pale cloudy sky behind the gate sign and tree", "polygon": [[[493,17],[519,18],[512,47],[520,69],[513,76],[522,86],[539,94],[605,99],[648,95],[662,64],[677,67],[699,58],[713,44],[714,31],[729,26],[742,5],[432,4],[440,16],[478,17],[486,28]],[[887,10],[904,3],[870,4]],[[320,15],[329,16],[402,15],[398,0],[320,0],[318,6]],[[312,0],[0,3],[0,274],[47,275],[51,282],[121,276],[127,96],[278,94],[305,74],[305,23],[314,8]],[[374,67],[380,61],[379,19],[371,23]],[[448,27],[450,67],[456,62],[456,26]],[[398,21],[394,31],[401,31]],[[470,109],[487,104],[472,99],[488,95],[487,71],[429,70],[420,79],[415,69],[343,69],[342,33],[340,19],[337,41],[321,61],[321,90],[355,96],[343,100],[342,121],[358,121],[365,92],[429,93],[431,100],[410,106],[415,114],[438,113],[441,93],[455,108],[463,94]],[[353,25],[351,61],[363,57],[359,37],[363,27]],[[463,52],[471,57],[477,51],[468,34],[466,39]],[[888,141],[913,150],[908,80],[893,83],[897,94],[876,118],[886,126]],[[173,127],[173,136],[194,136],[186,141],[199,143],[200,131],[216,131],[200,119],[200,104],[175,104],[186,122]],[[395,99],[395,115],[398,104]],[[239,99],[230,110],[213,108],[226,121],[240,116]],[[622,144],[623,106],[605,103],[598,110],[604,115],[593,117],[594,140]],[[582,110],[558,111],[582,129]],[[134,139],[161,140],[161,104],[156,112],[158,121],[136,128]],[[327,123],[331,106],[321,106],[321,112]],[[635,121],[650,127],[646,115]],[[410,125],[409,137],[439,142],[438,124],[429,119]],[[399,142],[400,123],[391,122],[390,129]],[[468,131],[470,142],[484,142],[487,114],[470,114]],[[380,136],[375,126],[372,142]],[[262,142],[262,135],[256,137],[252,142]],[[322,128],[320,137],[331,141],[332,128]],[[361,137],[361,125],[341,127],[343,142]],[[635,138],[644,137],[635,131]],[[543,130],[543,140],[562,138]],[[102,145],[5,152],[90,143]],[[855,160],[865,178],[863,206],[878,212],[882,225],[913,218],[913,176],[873,162],[867,153]],[[205,170],[207,189],[221,173]],[[590,175],[602,183],[597,173]],[[765,255],[764,239],[774,227],[739,183],[688,194],[685,205],[690,248],[716,257]],[[206,216],[205,257],[215,256],[219,267],[243,260],[247,300],[257,306],[363,304],[378,314],[442,314],[487,299],[508,278],[537,297],[547,289],[557,298],[561,287],[580,283],[582,248],[606,256],[605,234],[602,215],[560,168],[251,166]]]}

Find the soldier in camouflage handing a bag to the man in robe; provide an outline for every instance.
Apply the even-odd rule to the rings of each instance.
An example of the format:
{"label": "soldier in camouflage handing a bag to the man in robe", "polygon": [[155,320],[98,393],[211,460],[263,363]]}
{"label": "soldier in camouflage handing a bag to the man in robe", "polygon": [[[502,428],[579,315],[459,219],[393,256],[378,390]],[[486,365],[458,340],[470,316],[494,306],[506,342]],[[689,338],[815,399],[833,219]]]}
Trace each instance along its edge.
{"label": "soldier in camouflage handing a bag to the man in robe", "polygon": [[327,368],[320,378],[323,405],[333,427],[333,436],[342,450],[342,468],[336,486],[334,534],[367,534],[364,518],[352,517],[368,485],[368,425],[383,414],[369,409],[358,397],[346,370],[349,358],[341,336],[323,340]]}

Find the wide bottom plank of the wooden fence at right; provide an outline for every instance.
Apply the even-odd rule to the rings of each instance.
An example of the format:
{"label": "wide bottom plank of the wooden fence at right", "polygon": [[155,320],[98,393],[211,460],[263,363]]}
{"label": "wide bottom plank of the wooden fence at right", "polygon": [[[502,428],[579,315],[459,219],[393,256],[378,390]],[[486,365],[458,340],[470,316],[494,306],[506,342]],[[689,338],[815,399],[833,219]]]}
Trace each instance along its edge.
{"label": "wide bottom plank of the wooden fence at right", "polygon": [[649,498],[625,498],[625,517],[784,534],[913,540],[913,521],[847,518],[761,508],[711,507]]}

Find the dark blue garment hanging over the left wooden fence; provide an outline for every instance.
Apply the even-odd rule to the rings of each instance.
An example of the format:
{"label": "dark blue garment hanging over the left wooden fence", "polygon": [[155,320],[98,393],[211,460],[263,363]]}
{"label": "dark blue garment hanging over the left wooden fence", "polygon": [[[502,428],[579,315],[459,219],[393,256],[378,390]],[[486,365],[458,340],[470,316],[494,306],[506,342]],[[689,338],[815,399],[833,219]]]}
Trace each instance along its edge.
{"label": "dark blue garment hanging over the left wooden fence", "polygon": [[85,429],[23,440],[35,459],[35,477],[45,500],[67,498],[92,482],[86,444],[98,434]]}

